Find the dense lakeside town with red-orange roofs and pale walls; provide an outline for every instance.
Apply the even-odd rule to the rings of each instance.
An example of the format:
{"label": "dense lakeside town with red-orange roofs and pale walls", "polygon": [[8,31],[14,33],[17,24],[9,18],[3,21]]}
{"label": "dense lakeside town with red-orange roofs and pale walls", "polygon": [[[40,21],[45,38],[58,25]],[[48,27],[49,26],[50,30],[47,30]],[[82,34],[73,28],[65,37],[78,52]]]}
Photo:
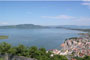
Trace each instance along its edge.
{"label": "dense lakeside town with red-orange roofs and pale walls", "polygon": [[54,49],[52,52],[68,57],[90,56],[90,35],[88,33],[82,33],[80,37],[66,39],[65,42],[61,44],[61,47],[61,50]]}

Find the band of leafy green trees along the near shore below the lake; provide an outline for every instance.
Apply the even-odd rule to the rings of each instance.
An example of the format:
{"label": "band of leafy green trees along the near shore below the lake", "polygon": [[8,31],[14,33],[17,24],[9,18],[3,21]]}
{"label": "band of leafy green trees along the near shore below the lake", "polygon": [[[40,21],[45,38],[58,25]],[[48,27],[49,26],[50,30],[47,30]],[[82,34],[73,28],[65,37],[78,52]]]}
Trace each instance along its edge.
{"label": "band of leafy green trees along the near shore below the lake", "polygon": [[12,47],[6,42],[0,44],[0,53],[35,58],[37,60],[68,60],[65,56],[61,55],[51,56],[52,52],[47,53],[45,48],[38,49],[35,46],[25,47],[24,45]]}

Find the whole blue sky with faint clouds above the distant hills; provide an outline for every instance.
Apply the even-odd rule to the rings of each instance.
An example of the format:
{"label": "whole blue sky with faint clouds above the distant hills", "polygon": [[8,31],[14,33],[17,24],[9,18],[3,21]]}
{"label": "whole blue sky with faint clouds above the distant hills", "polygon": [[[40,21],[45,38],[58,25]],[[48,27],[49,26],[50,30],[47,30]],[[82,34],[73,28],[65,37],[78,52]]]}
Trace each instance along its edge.
{"label": "whole blue sky with faint clouds above the distant hills", "polygon": [[0,1],[0,25],[90,26],[90,1]]}

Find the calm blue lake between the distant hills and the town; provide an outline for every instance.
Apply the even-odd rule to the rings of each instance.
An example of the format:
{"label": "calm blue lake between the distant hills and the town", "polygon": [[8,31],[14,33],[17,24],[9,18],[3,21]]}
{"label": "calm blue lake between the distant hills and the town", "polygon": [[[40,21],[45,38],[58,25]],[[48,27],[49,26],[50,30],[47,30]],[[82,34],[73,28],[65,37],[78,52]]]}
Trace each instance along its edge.
{"label": "calm blue lake between the distant hills and the town", "polygon": [[44,47],[46,49],[60,48],[60,44],[66,38],[79,36],[80,31],[65,29],[0,29],[0,35],[8,35],[8,39],[0,42],[8,42],[13,46],[24,44],[25,46]]}

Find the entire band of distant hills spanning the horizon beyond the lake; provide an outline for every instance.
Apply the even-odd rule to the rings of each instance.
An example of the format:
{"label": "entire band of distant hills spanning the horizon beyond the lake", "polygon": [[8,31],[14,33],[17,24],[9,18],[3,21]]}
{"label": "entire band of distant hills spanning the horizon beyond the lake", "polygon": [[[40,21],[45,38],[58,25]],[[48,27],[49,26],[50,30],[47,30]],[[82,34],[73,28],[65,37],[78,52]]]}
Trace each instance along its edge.
{"label": "entire band of distant hills spanning the horizon beyond the lake", "polygon": [[42,29],[42,28],[63,28],[63,29],[90,29],[90,26],[61,25],[61,26],[41,26],[34,24],[19,24],[0,26],[0,29]]}

